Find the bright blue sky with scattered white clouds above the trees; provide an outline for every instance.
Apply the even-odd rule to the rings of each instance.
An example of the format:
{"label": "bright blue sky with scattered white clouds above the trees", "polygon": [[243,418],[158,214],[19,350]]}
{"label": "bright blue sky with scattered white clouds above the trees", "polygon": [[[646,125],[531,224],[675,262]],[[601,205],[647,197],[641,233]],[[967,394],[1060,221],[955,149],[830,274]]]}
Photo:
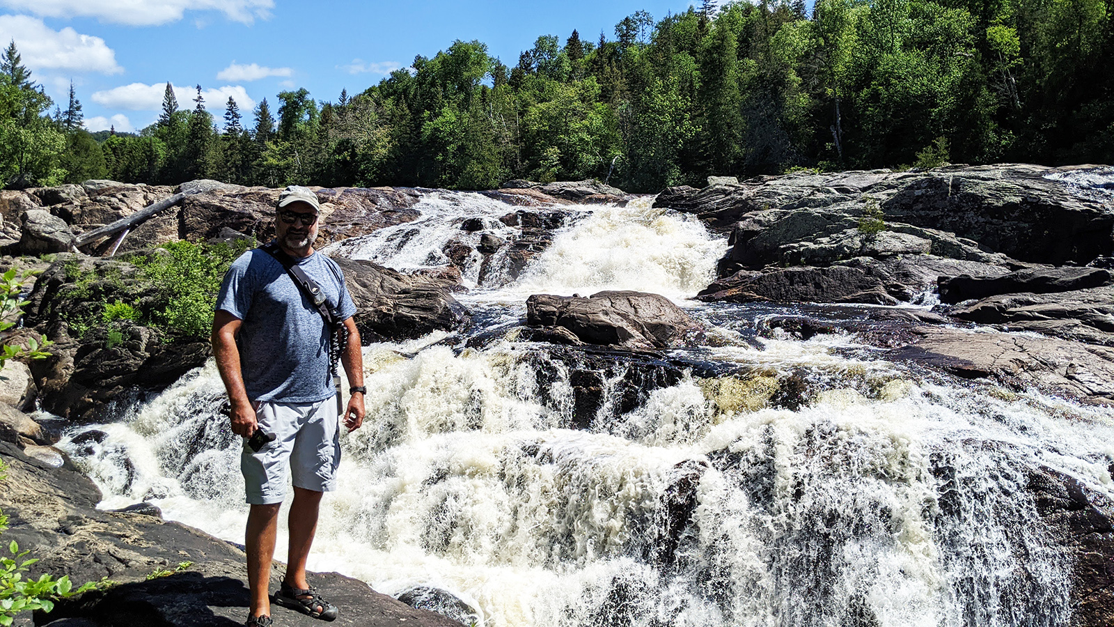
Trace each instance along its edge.
{"label": "bright blue sky with scattered white clouds above the trees", "polygon": [[91,131],[155,120],[167,80],[192,107],[201,84],[216,117],[290,87],[335,100],[379,83],[416,55],[479,39],[508,66],[540,35],[577,29],[596,41],[637,11],[655,20],[693,0],[358,2],[306,0],[0,0],[0,39],[14,39],[32,79],[65,106],[72,79]]}

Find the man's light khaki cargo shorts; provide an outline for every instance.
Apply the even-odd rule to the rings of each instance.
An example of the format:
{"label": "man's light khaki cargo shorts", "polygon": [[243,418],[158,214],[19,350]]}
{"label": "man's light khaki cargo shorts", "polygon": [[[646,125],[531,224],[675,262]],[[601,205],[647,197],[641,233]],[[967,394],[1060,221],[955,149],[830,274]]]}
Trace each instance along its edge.
{"label": "man's light khaki cargo shorts", "polygon": [[256,453],[244,440],[240,470],[244,473],[247,502],[281,503],[286,498],[287,467],[295,488],[331,492],[336,486],[341,442],[336,398],[315,403],[256,404],[260,428],[276,435]]}

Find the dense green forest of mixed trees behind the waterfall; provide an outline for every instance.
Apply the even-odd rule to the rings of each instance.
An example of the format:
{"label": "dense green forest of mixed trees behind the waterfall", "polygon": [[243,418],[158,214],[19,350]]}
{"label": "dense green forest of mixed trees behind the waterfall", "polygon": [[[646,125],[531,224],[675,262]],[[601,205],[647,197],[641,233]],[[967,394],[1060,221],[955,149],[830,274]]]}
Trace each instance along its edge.
{"label": "dense green forest of mixed trees behind the waterfall", "polygon": [[[0,59],[9,185],[212,177],[280,186],[491,189],[606,180],[634,192],[710,174],[1023,161],[1114,163],[1114,0],[734,2],[597,41],[539,37],[505,65],[455,41],[349,96],[235,100],[217,120],[169,84],[138,134],[81,128]],[[272,113],[272,107],[274,112]]]}

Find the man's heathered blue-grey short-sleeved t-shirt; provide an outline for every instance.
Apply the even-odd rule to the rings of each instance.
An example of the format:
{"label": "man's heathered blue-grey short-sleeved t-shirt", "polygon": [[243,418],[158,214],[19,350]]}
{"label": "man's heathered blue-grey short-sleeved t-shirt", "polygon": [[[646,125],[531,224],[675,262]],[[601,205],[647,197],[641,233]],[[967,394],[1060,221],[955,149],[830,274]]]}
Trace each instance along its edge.
{"label": "man's heathered blue-grey short-sleeved t-shirt", "polygon": [[[355,315],[335,261],[314,252],[296,262],[321,284],[341,320]],[[335,393],[325,321],[274,257],[255,249],[233,261],[216,308],[244,321],[236,346],[250,399],[314,403]]]}

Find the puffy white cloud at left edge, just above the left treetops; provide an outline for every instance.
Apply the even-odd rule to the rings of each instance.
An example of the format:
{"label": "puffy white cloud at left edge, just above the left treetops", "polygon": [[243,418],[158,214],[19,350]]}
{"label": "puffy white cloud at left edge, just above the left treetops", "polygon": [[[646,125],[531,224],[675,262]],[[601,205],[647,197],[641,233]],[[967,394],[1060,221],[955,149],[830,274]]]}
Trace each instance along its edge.
{"label": "puffy white cloud at left edge, just above the left treetops", "polygon": [[81,35],[70,27],[53,30],[38,18],[0,16],[0,41],[16,41],[23,64],[32,70],[124,71],[116,65],[116,52],[104,39]]}

